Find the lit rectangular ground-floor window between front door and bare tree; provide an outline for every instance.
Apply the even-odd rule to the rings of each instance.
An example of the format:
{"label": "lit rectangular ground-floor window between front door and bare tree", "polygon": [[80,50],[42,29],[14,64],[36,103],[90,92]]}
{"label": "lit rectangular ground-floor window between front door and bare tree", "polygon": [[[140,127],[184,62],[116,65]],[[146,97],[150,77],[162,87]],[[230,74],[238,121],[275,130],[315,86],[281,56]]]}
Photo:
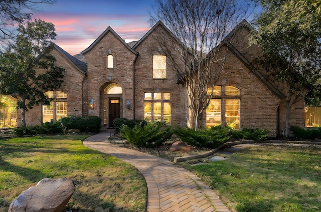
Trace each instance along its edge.
{"label": "lit rectangular ground-floor window between front door and bare tree", "polygon": [[171,93],[144,93],[144,119],[171,123]]}

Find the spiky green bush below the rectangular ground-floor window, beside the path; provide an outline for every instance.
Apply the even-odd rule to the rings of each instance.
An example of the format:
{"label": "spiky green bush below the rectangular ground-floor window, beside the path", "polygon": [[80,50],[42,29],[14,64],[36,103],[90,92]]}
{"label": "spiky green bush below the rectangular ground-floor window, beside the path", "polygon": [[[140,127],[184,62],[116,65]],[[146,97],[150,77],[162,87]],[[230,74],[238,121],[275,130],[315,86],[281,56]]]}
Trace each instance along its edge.
{"label": "spiky green bush below the rectangular ground-floor window, beside the path", "polygon": [[138,122],[133,128],[123,125],[120,128],[120,134],[138,148],[156,147],[162,145],[163,141],[171,138],[173,134],[172,127],[165,127],[165,125],[165,121],[150,121],[147,124]]}

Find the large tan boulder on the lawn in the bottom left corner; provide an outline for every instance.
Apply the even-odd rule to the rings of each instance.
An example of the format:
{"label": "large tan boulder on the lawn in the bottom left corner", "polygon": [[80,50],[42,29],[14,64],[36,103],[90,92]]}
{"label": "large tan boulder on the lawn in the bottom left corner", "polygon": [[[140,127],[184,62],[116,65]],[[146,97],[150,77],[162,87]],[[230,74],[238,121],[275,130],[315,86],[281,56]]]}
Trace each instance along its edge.
{"label": "large tan boulder on the lawn in the bottom left corner", "polygon": [[9,206],[9,212],[61,212],[75,191],[71,179],[45,178],[25,190]]}

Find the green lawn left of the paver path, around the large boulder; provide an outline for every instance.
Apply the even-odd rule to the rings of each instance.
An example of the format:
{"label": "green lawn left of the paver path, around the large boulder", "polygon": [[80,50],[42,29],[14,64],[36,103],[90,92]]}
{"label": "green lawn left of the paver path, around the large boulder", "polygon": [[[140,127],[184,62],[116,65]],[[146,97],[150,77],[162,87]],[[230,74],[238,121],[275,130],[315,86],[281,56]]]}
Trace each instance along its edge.
{"label": "green lawn left of the paver path, around the large boulder", "polygon": [[147,188],[132,165],[82,145],[88,135],[0,139],[0,211],[43,178],[71,178],[67,209],[145,211]]}

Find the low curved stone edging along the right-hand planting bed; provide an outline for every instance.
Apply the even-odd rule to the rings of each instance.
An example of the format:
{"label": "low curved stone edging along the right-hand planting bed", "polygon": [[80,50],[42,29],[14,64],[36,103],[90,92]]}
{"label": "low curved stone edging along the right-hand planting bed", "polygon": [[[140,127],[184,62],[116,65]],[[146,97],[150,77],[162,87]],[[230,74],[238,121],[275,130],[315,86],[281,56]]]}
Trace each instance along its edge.
{"label": "low curved stone edging along the right-hand planting bed", "polygon": [[219,147],[217,147],[215,149],[212,149],[210,151],[207,151],[207,152],[205,152],[203,154],[184,156],[184,157],[175,157],[174,158],[174,163],[208,157],[208,156],[218,152],[220,149],[222,149],[224,147],[234,146],[234,145],[237,145],[237,144],[245,144],[245,143],[294,143],[294,144],[321,145],[321,142],[317,142],[317,141],[284,141],[284,140],[266,140],[266,141],[260,141],[260,142],[252,141],[252,140],[233,141],[233,142],[226,142],[226,143],[220,145]]}

